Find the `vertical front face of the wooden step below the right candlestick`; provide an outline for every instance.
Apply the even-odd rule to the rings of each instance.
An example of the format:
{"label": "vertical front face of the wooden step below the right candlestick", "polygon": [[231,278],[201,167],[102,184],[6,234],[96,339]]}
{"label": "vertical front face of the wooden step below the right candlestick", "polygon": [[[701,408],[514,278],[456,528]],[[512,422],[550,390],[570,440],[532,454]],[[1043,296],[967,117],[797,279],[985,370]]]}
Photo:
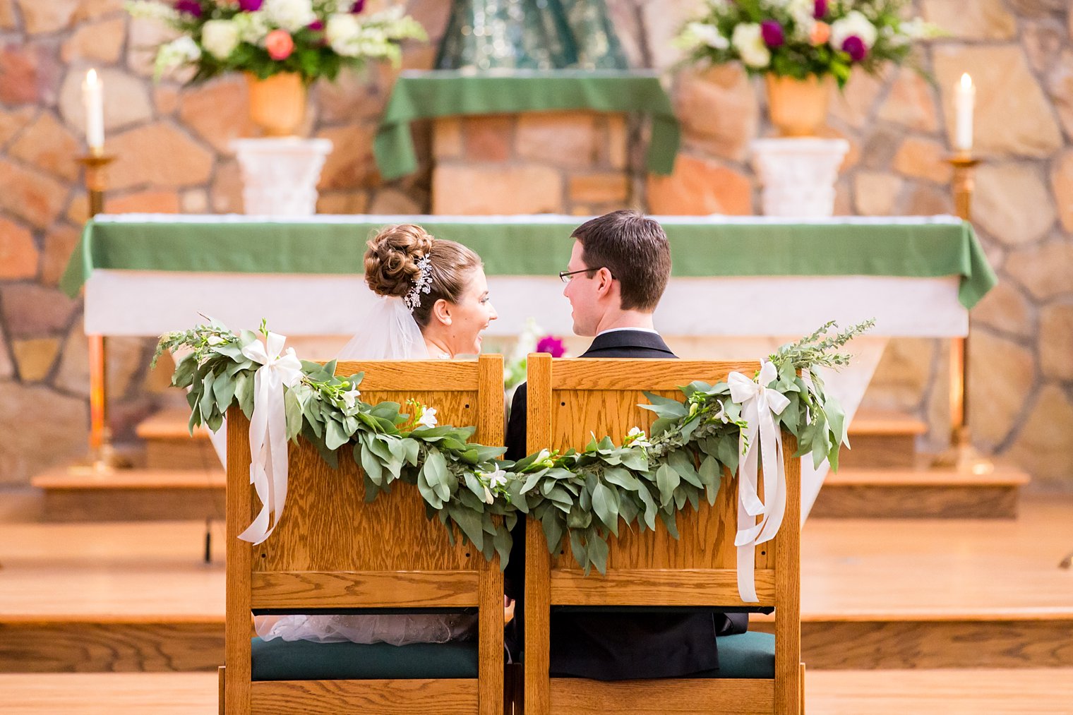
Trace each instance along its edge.
{"label": "vertical front face of the wooden step below the right candlestick", "polygon": [[1016,519],[1018,487],[826,484],[809,517]]}

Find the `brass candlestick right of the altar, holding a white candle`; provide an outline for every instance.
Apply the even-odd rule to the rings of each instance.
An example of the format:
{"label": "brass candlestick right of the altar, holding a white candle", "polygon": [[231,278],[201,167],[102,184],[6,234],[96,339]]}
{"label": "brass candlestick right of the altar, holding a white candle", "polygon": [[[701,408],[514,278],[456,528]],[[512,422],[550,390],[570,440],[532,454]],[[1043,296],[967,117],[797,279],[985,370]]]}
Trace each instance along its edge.
{"label": "brass candlestick right of the altar, holding a white candle", "polygon": [[[961,150],[946,158],[954,167],[954,213],[964,221],[972,217],[972,191],[975,188],[975,167],[980,159],[971,151]],[[971,330],[971,322],[970,322]],[[969,335],[954,338],[950,349],[950,447],[936,461],[937,467],[953,467],[958,471],[988,475],[995,464],[972,446],[969,428]]]}

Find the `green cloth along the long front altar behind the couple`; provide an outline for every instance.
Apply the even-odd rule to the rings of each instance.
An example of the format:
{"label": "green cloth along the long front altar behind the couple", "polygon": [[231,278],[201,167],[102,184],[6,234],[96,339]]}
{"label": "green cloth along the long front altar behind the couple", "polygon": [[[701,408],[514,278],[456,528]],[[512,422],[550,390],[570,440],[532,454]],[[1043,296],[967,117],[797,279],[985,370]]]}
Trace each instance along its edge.
{"label": "green cloth along the long front altar behind the couple", "polygon": [[[379,218],[370,221],[370,218]],[[657,217],[660,219],[660,217]],[[442,216],[323,216],[259,222],[219,217],[91,220],[60,287],[76,295],[95,268],[193,273],[359,274],[365,243],[386,221],[410,220],[480,253],[488,275],[554,276],[570,258],[569,216],[449,220]],[[996,283],[969,223],[710,222],[660,219],[672,275],[960,276],[971,308]]]}

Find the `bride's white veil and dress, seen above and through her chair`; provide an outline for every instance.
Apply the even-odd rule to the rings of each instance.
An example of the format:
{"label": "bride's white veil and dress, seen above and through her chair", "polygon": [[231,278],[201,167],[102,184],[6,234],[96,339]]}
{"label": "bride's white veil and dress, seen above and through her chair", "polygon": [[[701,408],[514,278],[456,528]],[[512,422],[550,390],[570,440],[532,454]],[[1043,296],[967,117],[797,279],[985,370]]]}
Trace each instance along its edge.
{"label": "bride's white veil and dress, seen above and through her chair", "polygon": [[[417,323],[402,298],[383,298],[363,329],[347,344],[337,360],[426,360],[428,350]],[[221,429],[221,433],[224,431]],[[283,615],[256,616],[254,629],[263,640],[320,643],[445,643],[476,633],[477,616],[471,614],[412,615]]]}

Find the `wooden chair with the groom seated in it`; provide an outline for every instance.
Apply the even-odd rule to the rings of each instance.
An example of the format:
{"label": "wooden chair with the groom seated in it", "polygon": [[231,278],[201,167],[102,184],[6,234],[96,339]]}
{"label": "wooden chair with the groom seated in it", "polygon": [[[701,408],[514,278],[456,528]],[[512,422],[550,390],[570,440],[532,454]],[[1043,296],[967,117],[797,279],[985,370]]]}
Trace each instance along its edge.
{"label": "wooden chair with the groom seated in it", "polygon": [[[529,355],[529,451],[550,446],[584,449],[609,435],[620,443],[633,426],[647,431],[655,419],[643,391],[681,398],[678,385],[693,380],[715,383],[729,373],[752,375],[758,363],[686,360],[552,360]],[[774,541],[756,548],[759,605],[775,607],[774,677],[667,678],[600,682],[549,677],[549,614],[556,605],[584,607],[741,607],[736,572],[736,479],[724,475],[714,507],[701,499],[700,511],[678,515],[680,538],[662,524],[656,531],[620,528],[609,541],[607,574],[578,567],[569,546],[548,556],[539,521],[526,531],[525,712],[606,713],[779,713],[802,705],[799,623],[799,465],[790,457],[796,442],[783,434],[789,494],[782,528]],[[756,636],[731,636],[730,639]],[[769,651],[768,651],[769,652]],[[722,658],[721,658],[722,661]],[[767,660],[768,667],[770,660]]]}

